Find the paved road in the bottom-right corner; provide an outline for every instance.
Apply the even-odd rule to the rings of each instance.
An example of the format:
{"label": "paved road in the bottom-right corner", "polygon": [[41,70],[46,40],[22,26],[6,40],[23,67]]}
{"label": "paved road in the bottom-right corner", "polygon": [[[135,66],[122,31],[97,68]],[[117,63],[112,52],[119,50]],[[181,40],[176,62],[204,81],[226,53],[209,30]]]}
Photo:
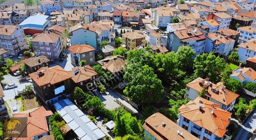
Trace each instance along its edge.
{"label": "paved road in the bottom-right corner", "polygon": [[250,113],[247,119],[244,121],[243,126],[239,127],[236,135],[232,140],[249,140],[253,135],[253,130],[256,129],[256,109]]}

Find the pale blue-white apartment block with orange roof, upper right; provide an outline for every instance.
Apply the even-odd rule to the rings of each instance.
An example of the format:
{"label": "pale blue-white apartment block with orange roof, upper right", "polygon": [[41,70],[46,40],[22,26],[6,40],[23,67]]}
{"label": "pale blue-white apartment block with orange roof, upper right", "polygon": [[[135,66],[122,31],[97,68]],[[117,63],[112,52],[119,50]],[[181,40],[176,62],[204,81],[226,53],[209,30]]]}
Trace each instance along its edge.
{"label": "pale blue-white apartment block with orange roof, upper right", "polygon": [[231,18],[230,15],[221,12],[221,13],[213,13],[209,14],[207,17],[209,20],[215,20],[219,23],[219,29],[226,29],[229,28]]}

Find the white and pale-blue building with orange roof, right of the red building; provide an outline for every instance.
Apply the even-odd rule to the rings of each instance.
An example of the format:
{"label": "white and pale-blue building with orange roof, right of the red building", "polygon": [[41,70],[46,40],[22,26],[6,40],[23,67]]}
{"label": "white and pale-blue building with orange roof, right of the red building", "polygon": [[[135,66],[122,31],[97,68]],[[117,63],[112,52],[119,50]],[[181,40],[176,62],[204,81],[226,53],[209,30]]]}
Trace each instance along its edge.
{"label": "white and pale-blue building with orange roof, right of the red building", "polygon": [[167,27],[167,23],[172,22],[174,14],[171,10],[156,10],[154,24],[158,27]]}

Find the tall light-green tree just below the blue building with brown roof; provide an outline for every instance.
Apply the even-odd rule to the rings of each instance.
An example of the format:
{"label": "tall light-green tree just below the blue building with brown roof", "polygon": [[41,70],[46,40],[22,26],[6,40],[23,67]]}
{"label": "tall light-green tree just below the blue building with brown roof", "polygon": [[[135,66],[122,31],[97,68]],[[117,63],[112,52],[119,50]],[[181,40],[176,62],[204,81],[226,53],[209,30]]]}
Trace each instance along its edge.
{"label": "tall light-green tree just below the blue building with brown roof", "polygon": [[190,72],[193,69],[195,51],[190,46],[180,46],[176,54],[179,69]]}

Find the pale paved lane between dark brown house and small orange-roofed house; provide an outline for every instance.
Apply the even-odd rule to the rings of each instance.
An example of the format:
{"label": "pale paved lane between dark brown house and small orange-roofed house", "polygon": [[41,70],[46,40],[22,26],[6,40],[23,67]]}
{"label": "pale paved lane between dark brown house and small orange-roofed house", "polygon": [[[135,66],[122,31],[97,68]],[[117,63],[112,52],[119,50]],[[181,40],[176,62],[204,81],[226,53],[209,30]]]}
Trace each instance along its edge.
{"label": "pale paved lane between dark brown house and small orange-roofed house", "polygon": [[65,52],[67,53],[67,56],[65,57],[64,61],[63,62],[56,61],[54,62],[54,64],[51,64],[50,67],[59,65],[62,68],[64,68],[64,70],[67,70],[67,71],[72,70],[74,66],[71,64],[70,50],[65,50]]}

